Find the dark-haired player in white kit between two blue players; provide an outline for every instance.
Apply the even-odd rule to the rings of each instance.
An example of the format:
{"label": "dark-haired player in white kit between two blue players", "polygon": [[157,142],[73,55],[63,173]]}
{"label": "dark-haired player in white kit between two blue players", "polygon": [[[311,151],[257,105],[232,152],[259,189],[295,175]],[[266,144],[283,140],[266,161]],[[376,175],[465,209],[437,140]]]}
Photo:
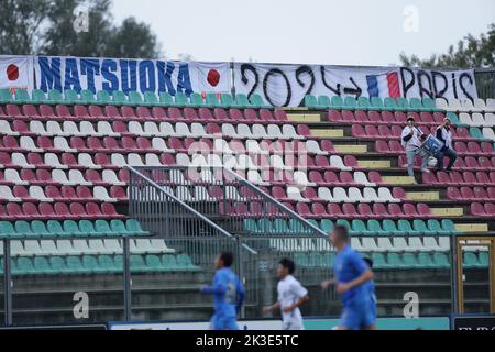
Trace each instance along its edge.
{"label": "dark-haired player in white kit between two blue players", "polygon": [[289,258],[278,263],[277,292],[278,300],[272,306],[263,308],[264,314],[282,310],[283,330],[304,330],[302,315],[299,307],[309,300],[308,290],[293,276],[296,264]]}

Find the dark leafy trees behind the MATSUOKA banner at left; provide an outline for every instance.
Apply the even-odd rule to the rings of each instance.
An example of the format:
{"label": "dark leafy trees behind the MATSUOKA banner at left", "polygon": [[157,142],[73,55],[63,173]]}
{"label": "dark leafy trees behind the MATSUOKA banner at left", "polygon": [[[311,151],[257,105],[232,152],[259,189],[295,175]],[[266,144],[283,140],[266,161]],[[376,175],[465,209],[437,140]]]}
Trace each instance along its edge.
{"label": "dark leafy trees behind the MATSUOKA banner at left", "polygon": [[[75,9],[89,9],[88,31],[76,33]],[[148,57],[161,55],[148,25],[134,18],[113,23],[111,0],[2,0],[2,54]]]}

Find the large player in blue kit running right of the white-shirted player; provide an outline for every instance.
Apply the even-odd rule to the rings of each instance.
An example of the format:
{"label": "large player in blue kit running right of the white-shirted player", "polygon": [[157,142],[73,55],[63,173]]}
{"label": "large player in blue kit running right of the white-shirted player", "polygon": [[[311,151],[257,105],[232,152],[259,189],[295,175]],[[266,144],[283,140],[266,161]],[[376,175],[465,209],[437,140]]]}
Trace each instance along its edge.
{"label": "large player in blue kit running right of the white-shirted player", "polygon": [[376,309],[373,309],[373,298],[370,294],[373,271],[362,255],[350,246],[345,227],[336,226],[330,241],[338,251],[334,262],[336,280],[323,282],[321,287],[327,289],[333,284],[337,285],[343,304],[338,330],[375,330]]}

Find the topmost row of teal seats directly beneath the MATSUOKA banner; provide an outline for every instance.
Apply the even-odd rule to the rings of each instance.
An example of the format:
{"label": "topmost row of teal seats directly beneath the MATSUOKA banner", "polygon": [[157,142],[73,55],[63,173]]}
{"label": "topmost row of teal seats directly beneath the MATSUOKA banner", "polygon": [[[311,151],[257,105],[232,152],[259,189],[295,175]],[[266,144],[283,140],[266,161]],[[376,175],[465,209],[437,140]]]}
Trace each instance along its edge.
{"label": "topmost row of teal seats directly beneath the MATSUOKA banner", "polygon": [[30,94],[26,90],[18,89],[12,96],[9,89],[0,90],[0,103],[50,103],[50,105],[114,105],[114,106],[147,106],[147,107],[235,107],[235,108],[271,108],[267,106],[260,95],[252,95],[249,98],[244,94],[238,94],[233,97],[230,94],[201,94],[194,92],[189,97],[184,92],[177,92],[173,97],[168,92],[161,92],[158,96],[153,91],[146,91],[141,95],[139,91],[123,91],[116,90],[109,92],[107,90],[99,90],[95,95],[92,91],[82,89],[76,91],[74,89],[66,89],[62,94],[57,89],[52,89],[47,94],[41,89],[33,89]]}

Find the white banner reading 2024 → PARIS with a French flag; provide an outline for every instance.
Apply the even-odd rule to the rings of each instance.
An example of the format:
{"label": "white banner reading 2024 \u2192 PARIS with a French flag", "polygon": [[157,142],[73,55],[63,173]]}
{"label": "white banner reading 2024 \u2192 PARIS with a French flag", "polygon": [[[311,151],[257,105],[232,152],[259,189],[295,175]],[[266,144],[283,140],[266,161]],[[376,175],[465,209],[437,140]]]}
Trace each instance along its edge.
{"label": "white banner reading 2024 \u2192 PARIS with a French flag", "polygon": [[340,97],[477,98],[474,70],[405,67],[234,64],[238,94],[279,107],[301,107],[307,95]]}

